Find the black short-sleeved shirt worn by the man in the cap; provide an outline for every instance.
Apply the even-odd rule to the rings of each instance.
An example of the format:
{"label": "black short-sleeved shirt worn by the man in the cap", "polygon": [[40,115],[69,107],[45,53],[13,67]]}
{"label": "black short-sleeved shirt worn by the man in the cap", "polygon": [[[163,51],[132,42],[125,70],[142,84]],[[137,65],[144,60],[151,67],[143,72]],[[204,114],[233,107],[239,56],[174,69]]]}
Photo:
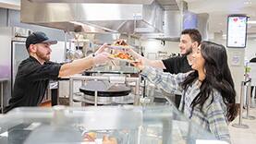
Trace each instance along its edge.
{"label": "black short-sleeved shirt worn by the man in the cap", "polygon": [[18,66],[14,90],[5,113],[19,106],[37,106],[43,96],[49,79],[57,79],[61,64],[46,62],[41,65],[30,56]]}

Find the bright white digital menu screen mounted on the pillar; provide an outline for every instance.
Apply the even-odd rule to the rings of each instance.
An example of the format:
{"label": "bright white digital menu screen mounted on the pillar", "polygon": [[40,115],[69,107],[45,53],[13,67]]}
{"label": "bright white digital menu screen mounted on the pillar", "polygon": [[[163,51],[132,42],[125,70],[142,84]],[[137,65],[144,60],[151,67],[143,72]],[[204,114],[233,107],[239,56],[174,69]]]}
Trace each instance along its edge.
{"label": "bright white digital menu screen mounted on the pillar", "polygon": [[247,41],[247,16],[228,16],[227,47],[245,48]]}

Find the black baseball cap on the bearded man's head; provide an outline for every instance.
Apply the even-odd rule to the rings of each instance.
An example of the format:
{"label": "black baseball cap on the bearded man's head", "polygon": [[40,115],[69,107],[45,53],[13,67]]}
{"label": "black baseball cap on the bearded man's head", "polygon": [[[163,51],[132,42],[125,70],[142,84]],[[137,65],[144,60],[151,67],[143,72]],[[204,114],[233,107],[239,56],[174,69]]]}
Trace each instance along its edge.
{"label": "black baseball cap on the bearded man's head", "polygon": [[30,44],[36,44],[36,43],[50,43],[50,44],[56,44],[57,41],[50,40],[45,33],[42,31],[36,31],[30,34],[30,36],[26,40],[26,47],[27,49],[30,47]]}

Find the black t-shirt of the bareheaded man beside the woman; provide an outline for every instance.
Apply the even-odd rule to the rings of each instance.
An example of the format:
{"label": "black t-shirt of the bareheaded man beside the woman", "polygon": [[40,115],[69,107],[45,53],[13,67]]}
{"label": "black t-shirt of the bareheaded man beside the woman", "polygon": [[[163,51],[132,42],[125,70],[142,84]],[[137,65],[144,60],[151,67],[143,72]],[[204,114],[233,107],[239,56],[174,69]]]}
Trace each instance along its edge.
{"label": "black t-shirt of the bareheaded man beside the woman", "polygon": [[186,73],[192,70],[191,66],[189,66],[187,56],[185,55],[165,59],[163,63],[166,67],[164,71],[171,74]]}

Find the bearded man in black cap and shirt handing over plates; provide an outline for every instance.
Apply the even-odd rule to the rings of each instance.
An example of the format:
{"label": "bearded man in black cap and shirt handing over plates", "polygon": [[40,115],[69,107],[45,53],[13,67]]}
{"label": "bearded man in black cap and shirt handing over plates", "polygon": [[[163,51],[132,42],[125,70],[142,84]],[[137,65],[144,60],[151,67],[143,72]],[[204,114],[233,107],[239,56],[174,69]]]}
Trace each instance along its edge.
{"label": "bearded man in black cap and shirt handing over plates", "polygon": [[18,66],[18,73],[14,83],[14,91],[9,105],[4,113],[15,107],[37,106],[43,101],[43,96],[50,79],[68,77],[109,60],[109,54],[103,53],[103,45],[94,56],[87,56],[67,64],[50,62],[52,52],[50,40],[41,31],[33,32],[26,40],[26,48],[30,57]]}

